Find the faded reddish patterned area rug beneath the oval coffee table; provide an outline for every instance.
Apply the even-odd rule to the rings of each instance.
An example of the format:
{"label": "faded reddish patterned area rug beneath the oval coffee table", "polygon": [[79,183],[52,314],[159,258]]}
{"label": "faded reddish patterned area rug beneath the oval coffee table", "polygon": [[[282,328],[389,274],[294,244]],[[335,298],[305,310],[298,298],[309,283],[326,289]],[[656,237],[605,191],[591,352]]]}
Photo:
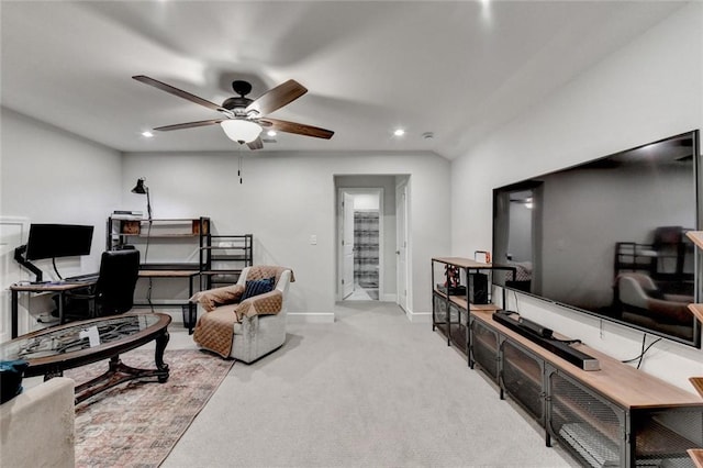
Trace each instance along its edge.
{"label": "faded reddish patterned area rug beneath the oval coffee table", "polygon": [[[132,367],[154,368],[154,350],[121,356]],[[158,467],[232,368],[234,360],[197,349],[166,350],[167,382],[132,380],[76,405],[77,467]],[[64,375],[82,383],[108,361]]]}

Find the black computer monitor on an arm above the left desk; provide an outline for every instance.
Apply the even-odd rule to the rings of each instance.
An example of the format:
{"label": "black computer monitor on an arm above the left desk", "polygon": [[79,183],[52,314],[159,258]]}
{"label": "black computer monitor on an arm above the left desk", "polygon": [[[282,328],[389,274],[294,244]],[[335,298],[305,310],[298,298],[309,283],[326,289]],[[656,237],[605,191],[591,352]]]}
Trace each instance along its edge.
{"label": "black computer monitor on an arm above the left desk", "polygon": [[93,226],[79,224],[31,224],[26,259],[90,255]]}

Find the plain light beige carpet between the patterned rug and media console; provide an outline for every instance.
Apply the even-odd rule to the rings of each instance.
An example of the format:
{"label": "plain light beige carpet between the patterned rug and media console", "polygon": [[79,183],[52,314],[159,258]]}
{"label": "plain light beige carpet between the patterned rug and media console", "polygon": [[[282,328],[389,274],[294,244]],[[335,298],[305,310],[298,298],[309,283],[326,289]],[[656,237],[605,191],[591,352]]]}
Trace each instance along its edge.
{"label": "plain light beige carpet between the patterned rug and media console", "polygon": [[429,323],[339,308],[236,363],[164,467],[578,466]]}

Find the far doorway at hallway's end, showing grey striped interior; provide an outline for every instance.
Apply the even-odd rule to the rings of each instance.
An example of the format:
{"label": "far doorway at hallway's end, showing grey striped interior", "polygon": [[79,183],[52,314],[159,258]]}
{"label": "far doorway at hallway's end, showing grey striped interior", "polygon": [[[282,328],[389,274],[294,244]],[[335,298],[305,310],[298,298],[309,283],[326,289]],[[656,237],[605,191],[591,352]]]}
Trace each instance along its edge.
{"label": "far doorway at hallway's end, showing grey striped interior", "polygon": [[378,301],[383,278],[383,189],[339,188],[341,300]]}

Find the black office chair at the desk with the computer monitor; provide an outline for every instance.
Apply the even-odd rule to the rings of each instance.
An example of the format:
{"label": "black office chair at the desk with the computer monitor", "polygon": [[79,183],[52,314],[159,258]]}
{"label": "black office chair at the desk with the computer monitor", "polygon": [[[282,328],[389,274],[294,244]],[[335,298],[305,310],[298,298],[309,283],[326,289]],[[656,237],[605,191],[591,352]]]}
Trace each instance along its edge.
{"label": "black office chair at the desk with the computer monitor", "polygon": [[98,281],[87,293],[66,293],[67,316],[97,317],[127,312],[134,305],[140,250],[108,250],[100,259]]}

